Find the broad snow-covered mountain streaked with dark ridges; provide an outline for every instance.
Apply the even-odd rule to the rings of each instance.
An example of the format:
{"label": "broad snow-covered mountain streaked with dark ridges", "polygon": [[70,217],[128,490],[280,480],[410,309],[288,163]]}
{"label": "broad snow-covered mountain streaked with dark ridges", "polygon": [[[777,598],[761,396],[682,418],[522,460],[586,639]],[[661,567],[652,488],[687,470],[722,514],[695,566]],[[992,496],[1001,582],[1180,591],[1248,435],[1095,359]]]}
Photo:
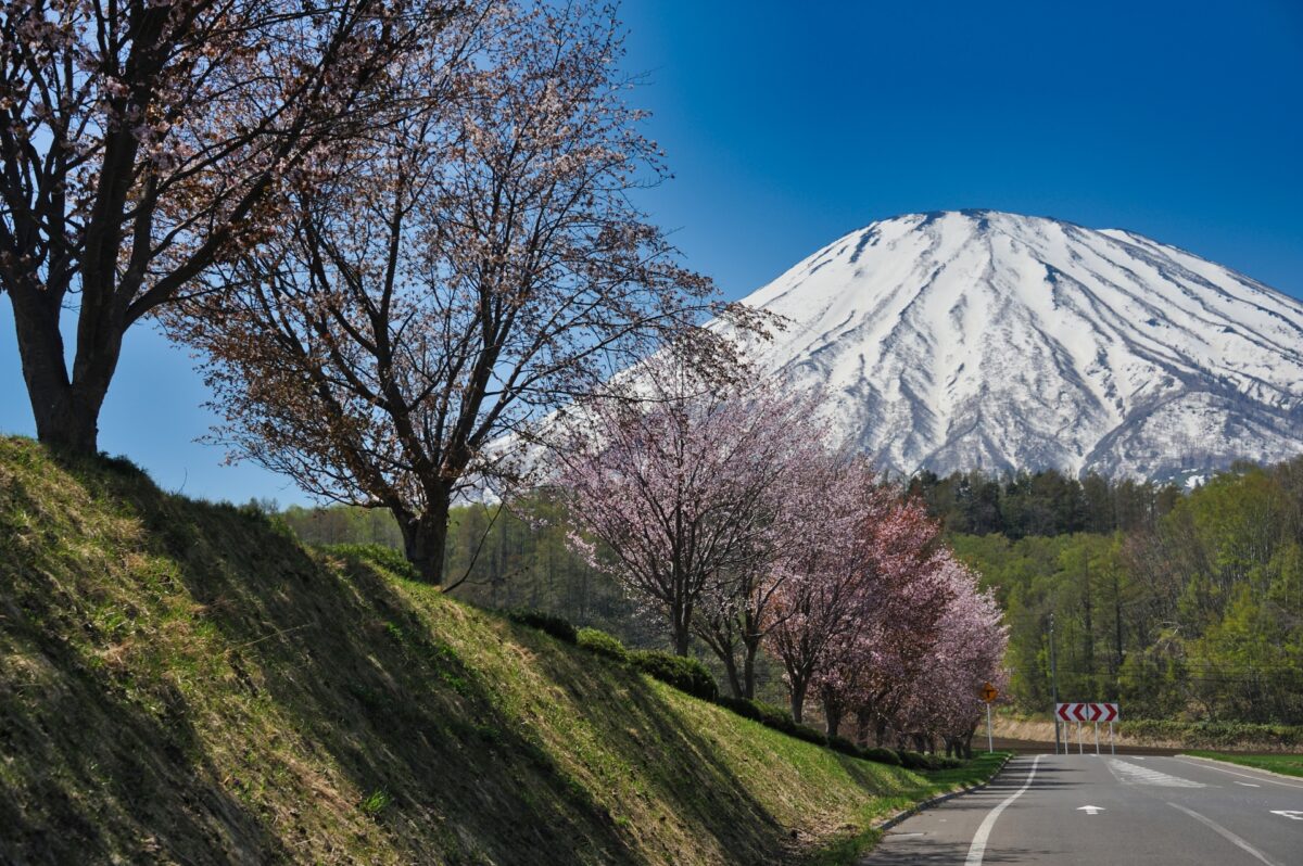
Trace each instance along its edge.
{"label": "broad snow-covered mountain streaked with dark ridges", "polygon": [[912,473],[1169,478],[1303,452],[1303,303],[1147,237],[995,211],[873,223],[743,300],[762,369]]}

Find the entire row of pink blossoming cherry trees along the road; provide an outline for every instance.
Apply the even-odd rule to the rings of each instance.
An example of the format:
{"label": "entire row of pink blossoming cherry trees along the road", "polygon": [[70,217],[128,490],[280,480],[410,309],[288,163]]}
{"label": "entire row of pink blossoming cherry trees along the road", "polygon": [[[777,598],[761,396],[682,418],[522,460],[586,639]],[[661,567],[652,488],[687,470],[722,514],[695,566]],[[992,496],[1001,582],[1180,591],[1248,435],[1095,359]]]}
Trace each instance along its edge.
{"label": "entire row of pink blossoming cherry trees along the road", "polygon": [[921,503],[829,447],[810,398],[692,370],[665,352],[559,419],[575,544],[737,697],[764,647],[796,720],[813,697],[830,733],[967,740],[1002,681],[992,595]]}

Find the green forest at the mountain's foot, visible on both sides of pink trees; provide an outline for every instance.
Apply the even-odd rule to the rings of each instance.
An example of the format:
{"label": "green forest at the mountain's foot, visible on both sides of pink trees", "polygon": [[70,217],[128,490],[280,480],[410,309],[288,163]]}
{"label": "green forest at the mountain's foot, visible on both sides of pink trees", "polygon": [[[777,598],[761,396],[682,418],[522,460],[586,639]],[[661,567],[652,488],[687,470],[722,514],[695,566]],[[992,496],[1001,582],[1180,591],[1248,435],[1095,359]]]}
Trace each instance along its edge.
{"label": "green forest at the mountain's foot, visible on both sides of pink trees", "polygon": [[[1132,719],[1303,720],[1303,458],[1237,465],[1194,490],[1057,471],[920,473],[907,490],[994,590],[1019,711],[1052,705],[1053,620],[1061,701],[1121,701]],[[559,509],[546,496],[455,508],[453,595],[658,646],[622,586],[567,546]],[[311,543],[401,547],[383,510],[280,517]],[[757,689],[783,691],[773,665]]]}

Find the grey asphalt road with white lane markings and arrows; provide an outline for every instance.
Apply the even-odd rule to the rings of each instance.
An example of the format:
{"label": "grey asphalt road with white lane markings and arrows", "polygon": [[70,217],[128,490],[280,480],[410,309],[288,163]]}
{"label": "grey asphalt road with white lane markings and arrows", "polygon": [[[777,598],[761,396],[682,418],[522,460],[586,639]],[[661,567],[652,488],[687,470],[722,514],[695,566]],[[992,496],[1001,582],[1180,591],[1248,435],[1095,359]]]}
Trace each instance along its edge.
{"label": "grey asphalt road with white lane markings and arrows", "polygon": [[1303,866],[1303,779],[1197,758],[1024,755],[896,824],[861,863]]}

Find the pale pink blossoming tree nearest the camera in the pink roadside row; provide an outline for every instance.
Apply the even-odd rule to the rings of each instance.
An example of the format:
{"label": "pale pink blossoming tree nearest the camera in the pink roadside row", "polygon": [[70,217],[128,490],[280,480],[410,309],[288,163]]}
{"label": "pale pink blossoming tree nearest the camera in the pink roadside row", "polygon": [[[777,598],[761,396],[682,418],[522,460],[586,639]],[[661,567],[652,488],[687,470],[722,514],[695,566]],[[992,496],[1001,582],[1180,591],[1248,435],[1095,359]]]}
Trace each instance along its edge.
{"label": "pale pink blossoming tree nearest the camera in the pink roadside row", "polygon": [[812,417],[808,398],[721,384],[666,350],[584,402],[558,448],[555,483],[609,570],[663,617],[675,652],[702,637],[735,694],[754,690],[767,565],[817,452]]}

